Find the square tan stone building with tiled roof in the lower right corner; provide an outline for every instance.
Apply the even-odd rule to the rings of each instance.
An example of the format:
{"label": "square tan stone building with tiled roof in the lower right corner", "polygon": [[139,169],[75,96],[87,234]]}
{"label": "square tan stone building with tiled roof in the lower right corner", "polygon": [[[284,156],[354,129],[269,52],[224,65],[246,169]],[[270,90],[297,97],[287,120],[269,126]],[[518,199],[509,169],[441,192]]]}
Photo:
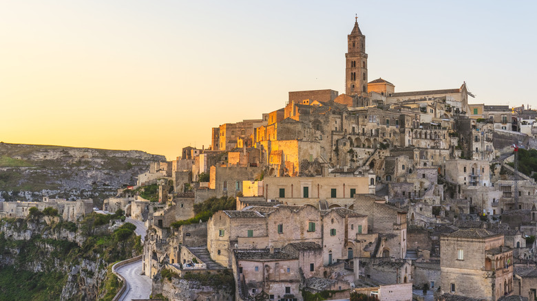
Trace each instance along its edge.
{"label": "square tan stone building with tiled roof in the lower right corner", "polygon": [[441,293],[498,300],[513,293],[513,252],[503,234],[459,230],[441,237]]}

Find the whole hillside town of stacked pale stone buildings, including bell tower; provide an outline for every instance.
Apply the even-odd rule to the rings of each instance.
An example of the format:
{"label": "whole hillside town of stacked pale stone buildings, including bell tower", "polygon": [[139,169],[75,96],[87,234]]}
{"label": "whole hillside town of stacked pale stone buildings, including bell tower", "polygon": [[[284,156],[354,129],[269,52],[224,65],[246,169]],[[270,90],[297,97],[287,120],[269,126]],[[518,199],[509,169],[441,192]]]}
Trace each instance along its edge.
{"label": "whole hillside town of stacked pale stone buildings, including bell tower", "polygon": [[[537,183],[520,163],[537,148],[537,111],[473,103],[462,81],[397,91],[370,80],[357,22],[345,62],[344,93],[290,91],[259,119],[214,124],[209,146],[105,199],[99,210],[147,227],[152,296],[537,300]],[[73,221],[93,211],[91,200],[0,206]]]}

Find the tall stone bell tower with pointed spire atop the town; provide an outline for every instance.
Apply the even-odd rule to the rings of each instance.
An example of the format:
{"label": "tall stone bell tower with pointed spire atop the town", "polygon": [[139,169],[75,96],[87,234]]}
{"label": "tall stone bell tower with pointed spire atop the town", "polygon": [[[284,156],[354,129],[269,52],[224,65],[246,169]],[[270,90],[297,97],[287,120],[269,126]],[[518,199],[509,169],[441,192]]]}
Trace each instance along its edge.
{"label": "tall stone bell tower with pointed spire atop the town", "polygon": [[345,54],[345,93],[350,96],[366,98],[368,96],[368,54],[366,54],[366,36],[361,34],[356,16],[355,27],[347,36],[347,53]]}

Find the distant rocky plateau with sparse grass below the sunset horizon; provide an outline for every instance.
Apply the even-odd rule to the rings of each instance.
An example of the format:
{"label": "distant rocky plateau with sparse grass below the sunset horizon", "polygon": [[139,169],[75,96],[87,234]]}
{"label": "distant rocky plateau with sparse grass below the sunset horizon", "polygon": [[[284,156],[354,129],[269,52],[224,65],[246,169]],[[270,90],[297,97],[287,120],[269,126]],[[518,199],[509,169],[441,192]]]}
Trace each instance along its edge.
{"label": "distant rocky plateau with sparse grass below the sunset horizon", "polygon": [[140,150],[0,143],[0,201],[103,199],[136,184],[162,155]]}

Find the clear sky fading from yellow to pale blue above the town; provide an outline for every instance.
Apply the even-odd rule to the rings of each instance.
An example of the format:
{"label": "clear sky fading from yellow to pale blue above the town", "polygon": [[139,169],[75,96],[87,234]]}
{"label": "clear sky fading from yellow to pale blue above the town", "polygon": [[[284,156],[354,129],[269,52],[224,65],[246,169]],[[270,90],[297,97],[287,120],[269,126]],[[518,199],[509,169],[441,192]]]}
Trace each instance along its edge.
{"label": "clear sky fading from yellow to pale blue above the town", "polygon": [[536,1],[0,1],[0,141],[175,159],[289,91],[344,93],[358,15],[368,79],[396,92],[467,83],[529,104]]}

